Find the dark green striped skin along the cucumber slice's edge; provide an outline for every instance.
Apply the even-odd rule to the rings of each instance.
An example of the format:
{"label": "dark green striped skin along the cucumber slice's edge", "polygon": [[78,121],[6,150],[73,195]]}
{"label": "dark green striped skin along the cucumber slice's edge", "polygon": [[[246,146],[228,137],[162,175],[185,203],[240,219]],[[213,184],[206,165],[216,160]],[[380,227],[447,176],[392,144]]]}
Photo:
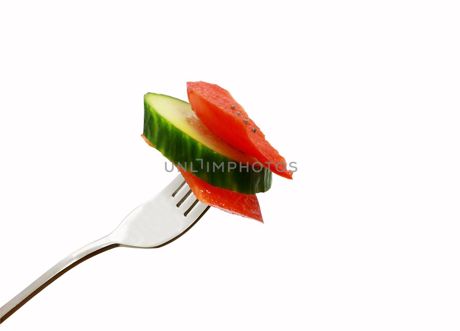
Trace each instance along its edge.
{"label": "dark green striped skin along the cucumber slice's edge", "polygon": [[[144,102],[144,136],[168,160],[176,165],[180,163],[186,171],[212,186],[242,194],[266,192],[271,187],[272,173],[270,170],[263,167],[261,171],[256,172],[249,165],[249,171],[246,172],[246,168],[243,168],[240,172],[239,163],[236,162],[236,169],[228,171],[228,162],[234,162],[234,160],[191,138],[156,113],[147,102]],[[201,161],[196,159],[203,160],[203,169],[201,169]],[[191,162],[193,162],[193,172]],[[209,172],[207,162],[209,162]],[[224,172],[221,168],[213,172],[213,162],[216,165],[224,162]]]}

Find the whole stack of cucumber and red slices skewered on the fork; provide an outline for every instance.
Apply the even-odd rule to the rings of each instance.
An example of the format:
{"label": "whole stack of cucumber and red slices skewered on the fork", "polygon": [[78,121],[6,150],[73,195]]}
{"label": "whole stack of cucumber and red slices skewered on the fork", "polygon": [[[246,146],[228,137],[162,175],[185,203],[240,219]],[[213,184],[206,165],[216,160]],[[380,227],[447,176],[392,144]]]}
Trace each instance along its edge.
{"label": "whole stack of cucumber and red slices skewered on the fork", "polygon": [[190,104],[144,96],[145,141],[178,166],[198,200],[263,222],[255,194],[271,187],[272,171],[292,179],[284,158],[228,91],[189,82],[187,93]]}

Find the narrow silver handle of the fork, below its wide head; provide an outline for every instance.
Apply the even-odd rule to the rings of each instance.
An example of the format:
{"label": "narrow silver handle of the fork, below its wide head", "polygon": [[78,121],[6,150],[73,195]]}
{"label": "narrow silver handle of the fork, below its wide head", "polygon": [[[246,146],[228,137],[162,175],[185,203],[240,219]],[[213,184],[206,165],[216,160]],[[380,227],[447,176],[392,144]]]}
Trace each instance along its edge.
{"label": "narrow silver handle of the fork, below its wide head", "polygon": [[78,251],[75,251],[68,257],[65,257],[0,308],[0,323],[10,317],[11,314],[21,308],[24,303],[28,302],[38,292],[50,285],[53,281],[57,280],[57,278],[65,274],[77,264],[117,246],[119,246],[119,244],[111,241],[108,236],[105,236],[99,240],[93,241],[91,244],[81,247]]}

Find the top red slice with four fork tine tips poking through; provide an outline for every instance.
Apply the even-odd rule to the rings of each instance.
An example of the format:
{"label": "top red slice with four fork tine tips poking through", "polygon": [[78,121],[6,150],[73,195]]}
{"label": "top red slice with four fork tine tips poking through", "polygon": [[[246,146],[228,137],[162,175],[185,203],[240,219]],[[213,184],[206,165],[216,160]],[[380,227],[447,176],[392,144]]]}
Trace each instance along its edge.
{"label": "top red slice with four fork tine tips poking through", "polygon": [[224,142],[259,160],[272,172],[292,179],[286,160],[273,148],[230,92],[216,84],[187,82],[187,95],[196,116]]}

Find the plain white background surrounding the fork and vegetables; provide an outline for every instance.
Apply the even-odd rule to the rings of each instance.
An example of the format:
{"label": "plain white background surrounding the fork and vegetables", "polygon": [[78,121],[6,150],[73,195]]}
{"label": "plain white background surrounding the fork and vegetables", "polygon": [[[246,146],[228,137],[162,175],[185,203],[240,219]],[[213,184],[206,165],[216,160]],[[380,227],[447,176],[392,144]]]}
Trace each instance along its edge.
{"label": "plain white background surrounding the fork and vegetables", "polygon": [[459,330],[456,1],[8,2],[0,304],[175,174],[143,95],[228,89],[299,171],[82,263],[2,330]]}

